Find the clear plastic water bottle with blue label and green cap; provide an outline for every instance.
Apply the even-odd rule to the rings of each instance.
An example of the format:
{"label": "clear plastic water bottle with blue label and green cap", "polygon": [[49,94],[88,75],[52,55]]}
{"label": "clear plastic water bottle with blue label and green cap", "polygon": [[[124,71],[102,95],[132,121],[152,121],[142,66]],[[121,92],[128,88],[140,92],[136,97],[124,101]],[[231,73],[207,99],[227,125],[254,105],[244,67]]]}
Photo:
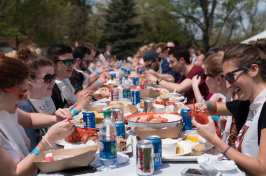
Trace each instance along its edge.
{"label": "clear plastic water bottle with blue label and green cap", "polygon": [[100,126],[100,170],[117,167],[116,127],[111,119],[111,111],[103,112],[104,120]]}

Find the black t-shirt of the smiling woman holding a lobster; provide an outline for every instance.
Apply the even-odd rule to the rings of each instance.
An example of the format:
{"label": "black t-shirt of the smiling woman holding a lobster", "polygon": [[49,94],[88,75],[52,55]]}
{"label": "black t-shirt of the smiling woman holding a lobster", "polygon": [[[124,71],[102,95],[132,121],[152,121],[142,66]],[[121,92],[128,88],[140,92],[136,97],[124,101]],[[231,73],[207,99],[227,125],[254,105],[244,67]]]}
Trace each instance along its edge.
{"label": "black t-shirt of the smiling woman holding a lobster", "polygon": [[[237,133],[241,130],[246,123],[249,112],[250,101],[234,100],[226,102],[227,109],[233,114],[236,122]],[[258,122],[258,145],[260,144],[261,130],[266,128],[266,104],[263,104],[261,114]]]}

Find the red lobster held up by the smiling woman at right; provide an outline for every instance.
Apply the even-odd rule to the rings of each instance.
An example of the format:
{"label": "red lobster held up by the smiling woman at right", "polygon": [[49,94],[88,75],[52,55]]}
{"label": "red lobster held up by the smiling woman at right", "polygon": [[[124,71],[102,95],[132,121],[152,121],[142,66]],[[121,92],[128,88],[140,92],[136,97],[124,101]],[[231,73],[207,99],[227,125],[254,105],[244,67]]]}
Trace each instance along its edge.
{"label": "red lobster held up by the smiling woman at right", "polygon": [[[191,115],[192,118],[194,118],[198,123],[205,125],[209,123],[208,116],[209,112],[207,110],[202,111],[199,107],[196,107],[194,104],[195,99],[193,100],[193,109],[187,113],[187,117]],[[217,122],[215,123],[216,133],[221,138],[221,130],[218,127]]]}

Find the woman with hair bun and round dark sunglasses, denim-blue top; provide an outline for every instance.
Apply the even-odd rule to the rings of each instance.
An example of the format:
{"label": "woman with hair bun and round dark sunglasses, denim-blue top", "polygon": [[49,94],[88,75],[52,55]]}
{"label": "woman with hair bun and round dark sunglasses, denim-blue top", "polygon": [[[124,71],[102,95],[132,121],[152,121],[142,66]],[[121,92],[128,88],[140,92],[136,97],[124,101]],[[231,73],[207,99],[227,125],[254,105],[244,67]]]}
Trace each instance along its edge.
{"label": "woman with hair bun and round dark sunglasses, denim-blue top", "polygon": [[[30,68],[27,91],[29,99],[22,101],[22,103],[18,105],[18,108],[29,113],[54,115],[56,108],[51,98],[53,86],[55,84],[53,62],[42,55],[32,53],[28,48],[20,49],[18,51],[18,58],[24,61]],[[75,108],[79,110],[86,105],[86,99],[81,99]],[[58,111],[61,111],[61,109]],[[25,128],[25,132],[31,141],[31,150],[37,146],[47,130],[47,128]]]}

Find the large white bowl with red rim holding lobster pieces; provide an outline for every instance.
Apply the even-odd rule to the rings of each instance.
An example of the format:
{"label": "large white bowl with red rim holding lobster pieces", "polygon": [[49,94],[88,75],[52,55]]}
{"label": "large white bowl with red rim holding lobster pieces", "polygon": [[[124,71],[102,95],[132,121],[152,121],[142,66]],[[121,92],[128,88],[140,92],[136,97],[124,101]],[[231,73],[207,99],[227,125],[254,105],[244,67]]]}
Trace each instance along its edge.
{"label": "large white bowl with red rim holding lobster pieces", "polygon": [[131,129],[136,126],[146,128],[171,128],[181,124],[182,117],[174,113],[138,113],[124,117]]}

